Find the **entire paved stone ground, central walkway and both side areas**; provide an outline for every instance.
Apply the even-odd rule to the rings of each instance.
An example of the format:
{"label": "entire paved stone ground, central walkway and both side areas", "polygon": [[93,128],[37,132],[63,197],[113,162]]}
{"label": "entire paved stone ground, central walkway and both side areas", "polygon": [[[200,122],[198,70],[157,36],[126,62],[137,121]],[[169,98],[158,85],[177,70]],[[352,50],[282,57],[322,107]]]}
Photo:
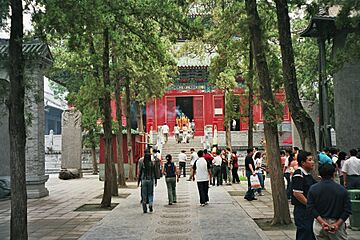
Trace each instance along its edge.
{"label": "entire paved stone ground, central walkway and both side areas", "polygon": [[[181,178],[178,203],[168,206],[165,182],[160,179],[153,213],[142,213],[139,189],[134,182],[128,183],[127,189],[119,189],[122,197],[130,195],[114,197],[112,202],[119,205],[112,211],[74,211],[86,203],[99,204],[103,184],[94,175],[69,181],[50,175],[46,184],[50,196],[28,200],[29,239],[295,240],[294,229],[262,231],[253,221],[273,216],[269,179],[265,182],[265,196],[251,202],[243,198],[246,181],[242,181],[211,187],[210,204],[200,207],[196,183]],[[1,240],[10,239],[9,221],[10,200],[0,201]],[[360,240],[359,232],[348,229],[348,234],[349,240]]]}

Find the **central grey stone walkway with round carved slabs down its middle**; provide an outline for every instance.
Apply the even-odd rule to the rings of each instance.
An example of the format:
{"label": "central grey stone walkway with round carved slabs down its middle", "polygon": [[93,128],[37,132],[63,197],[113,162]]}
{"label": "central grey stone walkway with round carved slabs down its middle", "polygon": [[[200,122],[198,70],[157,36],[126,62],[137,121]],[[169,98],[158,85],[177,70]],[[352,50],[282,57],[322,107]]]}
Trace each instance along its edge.
{"label": "central grey stone walkway with round carved slabs down its middle", "polygon": [[153,213],[142,213],[139,190],[132,190],[80,239],[268,239],[222,187],[211,187],[208,206],[199,204],[195,182],[181,178],[178,203],[167,205],[164,179],[155,188]]}

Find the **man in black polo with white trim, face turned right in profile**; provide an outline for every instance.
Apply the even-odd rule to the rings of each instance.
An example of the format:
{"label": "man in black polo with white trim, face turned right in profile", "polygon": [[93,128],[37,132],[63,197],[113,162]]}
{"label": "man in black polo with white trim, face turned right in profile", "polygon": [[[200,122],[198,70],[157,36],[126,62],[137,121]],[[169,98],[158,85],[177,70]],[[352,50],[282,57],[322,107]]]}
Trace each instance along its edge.
{"label": "man in black polo with white trim, face turned right in profile", "polygon": [[314,168],[311,153],[300,151],[297,157],[299,168],[292,177],[291,203],[294,205],[296,240],[315,240],[313,233],[314,218],[307,213],[307,194],[311,185],[316,183],[310,171]]}

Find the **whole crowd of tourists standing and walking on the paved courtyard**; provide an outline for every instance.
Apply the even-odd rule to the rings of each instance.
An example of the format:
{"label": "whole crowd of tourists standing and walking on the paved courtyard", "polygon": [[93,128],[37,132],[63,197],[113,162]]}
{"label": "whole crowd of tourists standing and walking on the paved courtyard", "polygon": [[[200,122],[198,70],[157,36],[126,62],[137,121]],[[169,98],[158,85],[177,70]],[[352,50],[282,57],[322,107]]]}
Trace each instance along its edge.
{"label": "whole crowd of tourists standing and walking on the paved courtyard", "polygon": [[[209,202],[209,186],[239,183],[238,156],[229,148],[211,152],[190,149],[192,173],[187,179],[197,181],[200,205]],[[179,168],[172,162],[172,156],[166,156],[166,163],[156,165],[149,151],[145,151],[144,160],[139,163],[139,184],[141,182],[141,203],[144,213],[153,211],[153,189],[160,178],[156,168],[162,166],[162,175],[168,189],[169,205],[176,203],[176,183],[180,173],[186,177],[186,151],[179,153]],[[256,194],[262,196],[264,188],[265,153],[258,149],[248,149],[245,158],[245,170],[248,191],[245,199],[256,200]],[[286,193],[294,205],[294,219],[297,228],[297,240],[311,239],[347,239],[345,221],[351,215],[351,202],[347,189],[360,189],[360,151],[352,149],[349,153],[335,148],[325,148],[318,155],[320,181],[311,175],[314,169],[314,157],[311,153],[294,147],[281,152],[281,164],[287,182]],[[196,178],[195,178],[196,176]],[[254,187],[253,179],[259,186]]]}

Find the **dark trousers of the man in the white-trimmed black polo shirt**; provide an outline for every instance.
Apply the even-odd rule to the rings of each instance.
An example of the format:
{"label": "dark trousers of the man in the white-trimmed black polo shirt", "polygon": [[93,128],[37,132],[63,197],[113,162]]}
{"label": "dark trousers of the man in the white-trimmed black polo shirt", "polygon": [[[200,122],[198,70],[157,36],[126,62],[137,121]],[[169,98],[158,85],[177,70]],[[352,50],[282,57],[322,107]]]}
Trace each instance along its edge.
{"label": "dark trousers of the man in the white-trimmed black polo shirt", "polygon": [[306,211],[305,206],[294,206],[296,240],[315,240],[313,232],[314,218]]}

